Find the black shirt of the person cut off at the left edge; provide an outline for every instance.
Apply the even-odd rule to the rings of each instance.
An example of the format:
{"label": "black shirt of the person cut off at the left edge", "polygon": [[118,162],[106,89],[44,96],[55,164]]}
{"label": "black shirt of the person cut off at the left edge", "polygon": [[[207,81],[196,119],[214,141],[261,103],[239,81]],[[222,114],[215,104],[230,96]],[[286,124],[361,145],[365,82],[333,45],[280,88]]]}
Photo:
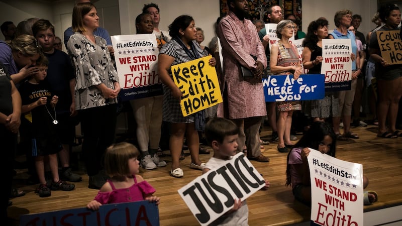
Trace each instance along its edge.
{"label": "black shirt of the person cut off at the left edge", "polygon": [[13,99],[11,97],[11,77],[6,67],[0,62],[0,112],[9,116],[13,113]]}

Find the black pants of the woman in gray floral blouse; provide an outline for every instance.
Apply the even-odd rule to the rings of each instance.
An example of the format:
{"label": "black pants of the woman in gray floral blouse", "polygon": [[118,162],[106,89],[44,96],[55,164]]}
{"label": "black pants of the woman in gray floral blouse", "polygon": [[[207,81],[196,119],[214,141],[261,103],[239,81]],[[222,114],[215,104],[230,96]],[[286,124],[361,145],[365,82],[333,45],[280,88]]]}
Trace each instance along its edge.
{"label": "black pants of the woman in gray floral blouse", "polygon": [[105,150],[115,142],[117,105],[79,110],[79,117],[84,136],[82,153],[86,173],[93,176],[104,169]]}

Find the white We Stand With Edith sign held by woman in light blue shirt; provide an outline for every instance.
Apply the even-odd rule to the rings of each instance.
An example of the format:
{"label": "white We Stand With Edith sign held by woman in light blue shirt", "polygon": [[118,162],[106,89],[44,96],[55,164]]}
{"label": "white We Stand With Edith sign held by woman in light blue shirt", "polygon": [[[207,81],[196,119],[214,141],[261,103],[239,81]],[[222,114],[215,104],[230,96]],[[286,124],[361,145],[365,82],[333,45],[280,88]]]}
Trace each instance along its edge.
{"label": "white We Stand With Edith sign held by woman in light blue shirt", "polygon": [[350,90],[352,84],[352,43],[350,39],[323,39],[321,74],[325,75],[325,90]]}

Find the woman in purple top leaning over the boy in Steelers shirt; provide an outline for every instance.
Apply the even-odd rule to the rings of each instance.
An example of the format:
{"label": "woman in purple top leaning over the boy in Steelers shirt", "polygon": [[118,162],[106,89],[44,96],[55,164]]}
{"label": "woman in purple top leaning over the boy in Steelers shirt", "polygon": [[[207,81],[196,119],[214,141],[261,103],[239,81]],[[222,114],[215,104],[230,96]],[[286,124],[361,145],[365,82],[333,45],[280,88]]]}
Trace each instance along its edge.
{"label": "woman in purple top leaning over the boy in Steelers shirt", "polygon": [[0,62],[14,84],[38,72],[35,63],[41,56],[40,45],[32,35],[20,35],[7,43],[0,41]]}

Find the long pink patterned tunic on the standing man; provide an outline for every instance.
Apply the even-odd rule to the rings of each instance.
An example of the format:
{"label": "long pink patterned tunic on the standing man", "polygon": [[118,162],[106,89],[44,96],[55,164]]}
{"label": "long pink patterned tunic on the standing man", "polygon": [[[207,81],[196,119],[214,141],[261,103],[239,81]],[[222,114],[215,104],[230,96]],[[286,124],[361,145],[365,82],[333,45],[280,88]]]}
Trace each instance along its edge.
{"label": "long pink patterned tunic on the standing man", "polygon": [[[240,65],[256,68],[253,56],[257,57],[264,68],[267,66],[264,47],[257,30],[250,20],[239,20],[233,12],[219,23],[218,37],[222,45],[223,87],[227,91],[229,119],[245,119],[266,116],[265,98],[262,83],[243,80]],[[221,90],[223,92],[223,90]],[[218,117],[224,117],[222,107]]]}

